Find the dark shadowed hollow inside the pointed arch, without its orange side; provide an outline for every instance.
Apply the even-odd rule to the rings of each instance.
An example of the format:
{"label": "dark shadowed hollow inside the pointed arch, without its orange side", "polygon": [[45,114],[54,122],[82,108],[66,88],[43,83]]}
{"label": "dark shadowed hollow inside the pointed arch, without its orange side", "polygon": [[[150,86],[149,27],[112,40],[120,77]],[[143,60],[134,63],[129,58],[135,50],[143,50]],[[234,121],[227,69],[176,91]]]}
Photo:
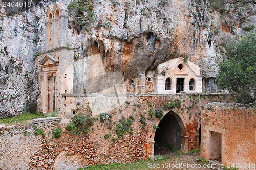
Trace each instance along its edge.
{"label": "dark shadowed hollow inside the pointed arch, without its orange side", "polygon": [[168,148],[172,146],[181,149],[181,135],[184,127],[182,120],[175,114],[172,111],[168,112],[158,124],[154,138],[154,155],[166,155],[169,153]]}

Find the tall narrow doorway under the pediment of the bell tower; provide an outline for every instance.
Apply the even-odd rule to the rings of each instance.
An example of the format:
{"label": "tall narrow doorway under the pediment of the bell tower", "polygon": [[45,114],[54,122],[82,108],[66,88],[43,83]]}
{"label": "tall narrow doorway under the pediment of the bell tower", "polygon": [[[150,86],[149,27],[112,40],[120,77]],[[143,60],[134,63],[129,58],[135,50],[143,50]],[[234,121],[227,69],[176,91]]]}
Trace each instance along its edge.
{"label": "tall narrow doorway under the pediment of the bell tower", "polygon": [[47,77],[47,112],[55,110],[55,76]]}

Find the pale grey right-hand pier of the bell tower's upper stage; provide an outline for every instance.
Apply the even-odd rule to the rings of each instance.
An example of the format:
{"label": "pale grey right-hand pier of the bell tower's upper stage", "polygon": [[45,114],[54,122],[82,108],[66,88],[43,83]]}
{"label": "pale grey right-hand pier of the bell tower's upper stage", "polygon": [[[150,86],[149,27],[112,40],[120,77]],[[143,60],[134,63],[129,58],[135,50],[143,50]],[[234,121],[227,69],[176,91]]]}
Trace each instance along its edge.
{"label": "pale grey right-hand pier of the bell tower's upper stage", "polygon": [[66,39],[67,39],[67,34],[68,34],[68,21],[69,21],[68,13],[61,11],[58,18],[59,18],[58,44],[59,44],[59,46],[66,46]]}

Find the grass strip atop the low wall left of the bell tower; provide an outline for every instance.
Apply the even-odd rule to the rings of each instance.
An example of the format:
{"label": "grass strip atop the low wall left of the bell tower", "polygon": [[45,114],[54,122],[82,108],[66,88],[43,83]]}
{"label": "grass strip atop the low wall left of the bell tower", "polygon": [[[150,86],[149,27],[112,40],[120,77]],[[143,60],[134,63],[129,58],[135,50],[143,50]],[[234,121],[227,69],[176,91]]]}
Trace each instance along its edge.
{"label": "grass strip atop the low wall left of the bell tower", "polygon": [[7,124],[7,123],[11,123],[11,122],[24,122],[27,120],[32,120],[35,118],[43,118],[45,117],[44,113],[22,113],[20,115],[18,115],[17,117],[12,117],[12,118],[6,118],[6,119],[1,119],[0,120],[0,124]]}

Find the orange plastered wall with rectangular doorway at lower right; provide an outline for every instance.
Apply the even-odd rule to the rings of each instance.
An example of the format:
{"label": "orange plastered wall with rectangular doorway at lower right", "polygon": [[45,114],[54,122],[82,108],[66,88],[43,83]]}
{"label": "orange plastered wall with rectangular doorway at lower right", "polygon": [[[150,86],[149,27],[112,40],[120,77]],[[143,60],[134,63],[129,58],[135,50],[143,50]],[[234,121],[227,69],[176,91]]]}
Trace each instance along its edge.
{"label": "orange plastered wall with rectangular doorway at lower right", "polygon": [[[216,143],[211,143],[211,133],[217,132],[221,134],[222,164],[238,163],[239,169],[256,169],[255,109],[225,103],[210,103],[203,108],[201,156],[211,159],[212,146],[216,146]],[[254,163],[254,166],[249,167],[249,163]]]}

